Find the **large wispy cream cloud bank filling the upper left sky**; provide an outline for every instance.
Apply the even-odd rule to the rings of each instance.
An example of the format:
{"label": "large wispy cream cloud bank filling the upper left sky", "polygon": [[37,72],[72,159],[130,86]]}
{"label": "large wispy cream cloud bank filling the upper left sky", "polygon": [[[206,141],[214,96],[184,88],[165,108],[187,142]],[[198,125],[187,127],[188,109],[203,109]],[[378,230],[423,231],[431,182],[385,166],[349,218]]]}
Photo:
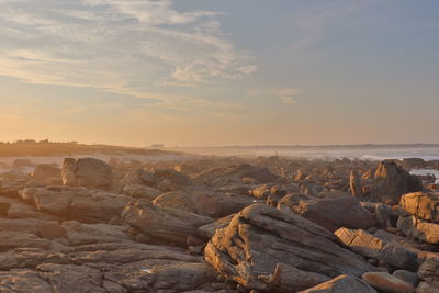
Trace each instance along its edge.
{"label": "large wispy cream cloud bank filling the upper left sky", "polygon": [[168,0],[0,0],[0,75],[176,104],[181,97],[165,87],[256,71],[219,20],[213,11],[180,12]]}

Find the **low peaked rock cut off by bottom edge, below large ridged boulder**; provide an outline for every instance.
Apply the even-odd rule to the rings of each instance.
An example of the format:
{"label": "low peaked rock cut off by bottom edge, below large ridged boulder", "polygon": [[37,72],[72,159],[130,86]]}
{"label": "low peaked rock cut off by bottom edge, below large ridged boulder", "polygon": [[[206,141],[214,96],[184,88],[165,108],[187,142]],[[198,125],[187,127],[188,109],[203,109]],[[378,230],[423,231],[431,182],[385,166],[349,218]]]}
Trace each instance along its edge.
{"label": "low peaked rock cut off by bottom edge, below large ridged boulder", "polygon": [[376,293],[367,282],[348,274],[301,291],[300,293]]}

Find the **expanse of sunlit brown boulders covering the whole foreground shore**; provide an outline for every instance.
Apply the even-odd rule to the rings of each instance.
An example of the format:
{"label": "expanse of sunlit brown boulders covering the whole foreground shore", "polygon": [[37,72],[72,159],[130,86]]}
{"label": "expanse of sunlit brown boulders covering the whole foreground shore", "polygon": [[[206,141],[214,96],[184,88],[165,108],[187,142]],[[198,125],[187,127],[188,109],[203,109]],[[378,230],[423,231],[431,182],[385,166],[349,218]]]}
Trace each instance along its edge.
{"label": "expanse of sunlit brown boulders covering the whole foreground shore", "polygon": [[436,161],[2,167],[0,292],[439,292]]}

